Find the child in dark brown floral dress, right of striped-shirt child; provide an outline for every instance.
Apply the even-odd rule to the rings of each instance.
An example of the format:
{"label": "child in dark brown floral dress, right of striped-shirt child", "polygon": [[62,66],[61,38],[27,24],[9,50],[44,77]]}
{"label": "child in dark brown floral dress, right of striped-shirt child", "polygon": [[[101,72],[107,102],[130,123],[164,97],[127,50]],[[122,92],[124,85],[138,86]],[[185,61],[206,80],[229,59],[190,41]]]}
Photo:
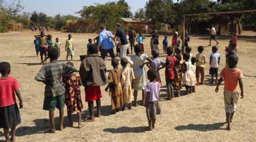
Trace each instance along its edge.
{"label": "child in dark brown floral dress, right of striped-shirt child", "polygon": [[[74,66],[72,62],[67,62],[68,65]],[[70,126],[73,127],[72,113],[77,112],[78,128],[81,128],[82,121],[82,99],[80,86],[82,82],[80,76],[77,73],[68,74],[68,76],[63,78],[63,83],[65,83],[65,104],[67,105],[68,119]]]}

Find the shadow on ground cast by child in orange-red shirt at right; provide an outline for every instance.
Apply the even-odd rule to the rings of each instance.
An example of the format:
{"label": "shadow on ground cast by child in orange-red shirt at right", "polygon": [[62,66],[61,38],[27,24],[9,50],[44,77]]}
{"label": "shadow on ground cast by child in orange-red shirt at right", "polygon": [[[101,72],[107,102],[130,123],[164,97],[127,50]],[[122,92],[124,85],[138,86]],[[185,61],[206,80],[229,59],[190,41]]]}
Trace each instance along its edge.
{"label": "shadow on ground cast by child in orange-red shirt at right", "polygon": [[188,124],[187,126],[177,126],[175,130],[183,131],[183,130],[195,130],[195,131],[214,131],[214,130],[225,130],[225,128],[221,128],[225,122],[222,123],[214,123],[214,124]]}

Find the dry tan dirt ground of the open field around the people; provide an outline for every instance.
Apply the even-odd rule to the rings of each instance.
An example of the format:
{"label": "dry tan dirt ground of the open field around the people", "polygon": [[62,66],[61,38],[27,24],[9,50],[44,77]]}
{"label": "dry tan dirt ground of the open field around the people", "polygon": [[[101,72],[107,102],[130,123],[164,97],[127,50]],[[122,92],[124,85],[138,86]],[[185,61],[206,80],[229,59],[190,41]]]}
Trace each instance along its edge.
{"label": "dry tan dirt ground of the open field around the people", "polygon": [[[47,34],[47,33],[46,33]],[[62,53],[59,60],[66,59],[65,40],[67,33],[51,32],[53,39],[59,37],[62,43]],[[256,35],[251,32],[246,35]],[[79,55],[86,54],[86,44],[95,34],[73,34],[75,45],[75,66],[79,68]],[[145,40],[146,53],[150,53],[149,37]],[[222,56],[220,69],[225,67],[225,46],[229,38],[218,37],[219,52]],[[68,127],[68,118],[65,108],[65,126],[63,131],[55,134],[45,134],[49,128],[48,112],[43,111],[44,85],[36,82],[34,77],[41,68],[39,57],[35,57],[33,33],[10,32],[0,34],[0,62],[7,61],[12,65],[11,76],[18,78],[21,85],[21,94],[25,108],[20,110],[22,123],[17,128],[17,141],[256,141],[256,38],[238,39],[238,68],[244,73],[245,97],[239,99],[238,109],[231,124],[231,131],[226,131],[225,109],[223,102],[223,86],[219,93],[215,93],[215,86],[209,84],[209,56],[211,47],[205,47],[207,56],[205,68],[205,85],[196,87],[196,94],[176,97],[172,101],[161,99],[162,115],[158,115],[156,129],[145,132],[147,117],[145,107],[133,107],[132,110],[110,115],[110,97],[102,87],[102,116],[95,122],[83,123],[81,129]],[[163,40],[161,36],[160,41]],[[171,37],[169,37],[171,43]],[[192,54],[197,53],[197,46],[209,45],[208,37],[191,37]],[[162,45],[160,46],[162,49]],[[161,55],[165,59],[165,55]],[[110,59],[110,58],[109,58]],[[110,60],[106,61],[107,69],[111,70]],[[161,71],[165,84],[164,70]],[[82,90],[84,88],[82,87]],[[184,88],[183,88],[184,89]],[[165,88],[161,97],[165,97]],[[87,103],[84,101],[83,118],[89,115]],[[141,99],[141,95],[139,96]],[[55,111],[55,116],[58,116]],[[74,116],[76,116],[74,114]],[[55,119],[58,128],[59,120]],[[76,126],[77,123],[74,124]],[[0,130],[0,141],[4,141],[3,130]]]}

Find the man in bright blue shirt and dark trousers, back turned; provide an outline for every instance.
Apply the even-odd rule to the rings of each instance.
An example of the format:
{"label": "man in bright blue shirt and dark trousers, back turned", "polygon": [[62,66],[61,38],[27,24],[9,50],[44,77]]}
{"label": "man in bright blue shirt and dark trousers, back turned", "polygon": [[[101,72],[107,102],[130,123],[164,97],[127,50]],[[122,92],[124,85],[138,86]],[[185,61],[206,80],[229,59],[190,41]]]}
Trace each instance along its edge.
{"label": "man in bright blue shirt and dark trousers, back turned", "polygon": [[[99,40],[98,40],[98,50],[100,50],[100,54],[103,60],[105,60],[105,57],[108,55],[108,53],[111,56],[111,59],[115,58],[114,55],[114,44],[113,40],[110,37],[113,37],[113,34],[111,31],[106,30],[105,26],[101,26],[101,32],[99,34]],[[110,37],[109,37],[110,36]]]}

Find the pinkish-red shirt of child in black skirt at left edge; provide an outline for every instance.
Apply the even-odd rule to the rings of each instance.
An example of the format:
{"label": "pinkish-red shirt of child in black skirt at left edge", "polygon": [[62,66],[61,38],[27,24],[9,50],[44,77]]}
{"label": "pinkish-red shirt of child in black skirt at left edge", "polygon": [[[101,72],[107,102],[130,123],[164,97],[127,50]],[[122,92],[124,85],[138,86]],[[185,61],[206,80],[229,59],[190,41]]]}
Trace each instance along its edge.
{"label": "pinkish-red shirt of child in black skirt at left edge", "polygon": [[0,78],[0,107],[15,104],[15,90],[19,89],[20,85],[17,79],[12,77]]}

